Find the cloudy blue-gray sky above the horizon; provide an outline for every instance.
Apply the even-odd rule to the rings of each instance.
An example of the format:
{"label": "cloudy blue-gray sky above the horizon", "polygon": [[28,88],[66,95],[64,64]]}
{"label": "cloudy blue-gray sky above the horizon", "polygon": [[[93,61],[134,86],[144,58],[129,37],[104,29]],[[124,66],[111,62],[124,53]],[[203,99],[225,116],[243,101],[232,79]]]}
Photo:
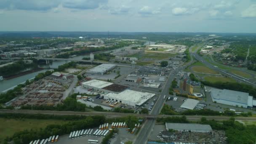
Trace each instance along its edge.
{"label": "cloudy blue-gray sky above the horizon", "polygon": [[256,0],[0,0],[0,31],[256,33]]}

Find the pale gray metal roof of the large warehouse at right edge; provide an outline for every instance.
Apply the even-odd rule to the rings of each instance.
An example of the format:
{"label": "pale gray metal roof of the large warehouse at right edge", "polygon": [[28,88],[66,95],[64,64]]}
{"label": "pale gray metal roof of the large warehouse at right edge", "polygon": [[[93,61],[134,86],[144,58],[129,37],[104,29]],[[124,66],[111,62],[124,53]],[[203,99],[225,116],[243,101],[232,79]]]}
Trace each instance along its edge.
{"label": "pale gray metal roof of the large warehouse at right edge", "polygon": [[232,101],[242,104],[248,103],[249,93],[244,93],[240,91],[232,91],[232,90],[220,90],[216,88],[211,88],[211,96],[214,99],[220,99],[225,101]]}

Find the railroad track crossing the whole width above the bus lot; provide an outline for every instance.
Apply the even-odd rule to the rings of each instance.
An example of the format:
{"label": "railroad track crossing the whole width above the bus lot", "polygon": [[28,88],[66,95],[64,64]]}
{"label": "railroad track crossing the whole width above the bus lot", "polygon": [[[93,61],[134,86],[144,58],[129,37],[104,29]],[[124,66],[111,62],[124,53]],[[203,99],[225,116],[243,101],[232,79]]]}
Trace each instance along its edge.
{"label": "railroad track crossing the whole width above the bus lot", "polygon": [[[157,118],[157,117],[182,117],[182,115],[144,115],[144,114],[127,114],[118,112],[70,112],[70,111],[49,111],[49,110],[8,110],[2,109],[0,113],[24,113],[24,114],[48,114],[48,115],[104,115],[108,117],[123,117],[133,115],[136,117]],[[205,117],[208,120],[228,120],[227,116],[202,116],[202,115],[186,115],[188,120],[200,120]],[[235,117],[236,120],[256,121],[256,117]]]}

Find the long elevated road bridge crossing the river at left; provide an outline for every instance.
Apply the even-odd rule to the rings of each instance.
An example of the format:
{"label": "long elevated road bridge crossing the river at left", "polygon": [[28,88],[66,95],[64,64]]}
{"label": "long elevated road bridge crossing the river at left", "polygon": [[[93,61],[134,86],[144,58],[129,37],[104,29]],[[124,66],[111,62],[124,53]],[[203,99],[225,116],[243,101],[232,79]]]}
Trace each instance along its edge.
{"label": "long elevated road bridge crossing the river at left", "polygon": [[39,57],[35,57],[34,59],[37,60],[45,60],[46,64],[49,64],[49,60],[52,61],[65,61],[67,63],[67,61],[78,61],[78,62],[88,62],[88,63],[96,63],[96,64],[116,64],[117,66],[121,66],[121,67],[132,67],[131,64],[117,64],[117,63],[112,63],[112,62],[108,62],[108,61],[91,61],[91,60],[83,60],[83,59],[59,59],[59,58],[39,58]]}

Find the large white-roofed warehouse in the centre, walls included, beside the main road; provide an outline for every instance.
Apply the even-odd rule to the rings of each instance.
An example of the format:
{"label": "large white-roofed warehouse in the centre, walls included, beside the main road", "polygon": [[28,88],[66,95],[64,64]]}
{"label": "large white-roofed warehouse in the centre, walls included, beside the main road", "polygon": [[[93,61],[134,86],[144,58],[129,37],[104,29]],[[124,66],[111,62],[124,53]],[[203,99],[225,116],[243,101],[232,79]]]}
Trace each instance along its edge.
{"label": "large white-roofed warehouse in the centre, walls included, beside the main road", "polygon": [[121,93],[108,93],[104,95],[104,99],[110,99],[112,101],[117,101],[134,107],[140,107],[153,96],[155,96],[155,93],[144,93],[139,91],[125,90]]}

